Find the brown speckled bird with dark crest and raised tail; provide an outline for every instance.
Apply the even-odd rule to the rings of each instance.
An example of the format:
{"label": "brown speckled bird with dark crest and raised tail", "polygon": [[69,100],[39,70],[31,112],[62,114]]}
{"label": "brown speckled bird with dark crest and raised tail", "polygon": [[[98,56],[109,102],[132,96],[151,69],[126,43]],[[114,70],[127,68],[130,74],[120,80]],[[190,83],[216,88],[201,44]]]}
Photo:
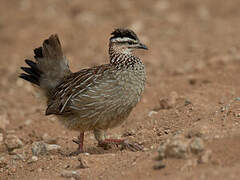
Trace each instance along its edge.
{"label": "brown speckled bird with dark crest and raised tail", "polygon": [[79,132],[74,155],[84,152],[84,132],[93,131],[98,145],[122,145],[140,151],[137,143],[108,139],[106,131],[122,124],[140,101],[146,82],[145,66],[134,50],[147,50],[136,33],[115,29],[109,38],[109,62],[72,72],[57,34],[34,49],[35,61],[20,78],[38,86],[47,97],[45,115],[55,115],[68,129]]}

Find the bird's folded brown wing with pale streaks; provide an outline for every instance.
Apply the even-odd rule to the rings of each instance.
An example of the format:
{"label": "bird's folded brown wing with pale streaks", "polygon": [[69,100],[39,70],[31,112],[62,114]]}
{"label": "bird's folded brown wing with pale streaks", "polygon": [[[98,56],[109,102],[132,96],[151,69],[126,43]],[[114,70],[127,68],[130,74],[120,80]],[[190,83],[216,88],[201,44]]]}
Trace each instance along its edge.
{"label": "bird's folded brown wing with pale streaks", "polygon": [[110,64],[105,64],[72,73],[52,92],[46,115],[72,113],[78,110],[80,104],[84,106],[86,103],[94,103],[96,99],[103,100],[103,97],[96,96],[112,88],[112,84],[106,82],[114,79],[113,71],[109,70],[112,68]]}

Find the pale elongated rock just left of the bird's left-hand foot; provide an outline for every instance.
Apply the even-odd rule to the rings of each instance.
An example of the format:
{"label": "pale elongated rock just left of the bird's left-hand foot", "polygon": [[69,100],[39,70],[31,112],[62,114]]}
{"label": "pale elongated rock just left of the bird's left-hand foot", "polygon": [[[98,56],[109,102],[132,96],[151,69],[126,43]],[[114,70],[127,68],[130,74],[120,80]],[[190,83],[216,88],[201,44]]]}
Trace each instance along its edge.
{"label": "pale elongated rock just left of the bird's left-hand foot", "polygon": [[56,151],[60,149],[61,146],[57,144],[47,144],[43,141],[34,142],[32,144],[32,154],[34,156],[47,154],[49,151]]}

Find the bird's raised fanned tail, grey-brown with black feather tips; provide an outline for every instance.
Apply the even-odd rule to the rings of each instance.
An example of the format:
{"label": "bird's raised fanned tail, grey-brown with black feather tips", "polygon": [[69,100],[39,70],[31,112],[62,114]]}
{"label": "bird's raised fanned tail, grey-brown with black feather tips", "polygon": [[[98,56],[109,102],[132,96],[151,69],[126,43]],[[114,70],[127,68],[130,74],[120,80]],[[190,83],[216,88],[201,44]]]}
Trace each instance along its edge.
{"label": "bird's raised fanned tail, grey-brown with black feather tips", "polygon": [[26,59],[29,67],[21,67],[20,78],[40,86],[47,94],[71,73],[68,61],[63,55],[57,34],[51,35],[43,45],[34,49],[35,62]]}

